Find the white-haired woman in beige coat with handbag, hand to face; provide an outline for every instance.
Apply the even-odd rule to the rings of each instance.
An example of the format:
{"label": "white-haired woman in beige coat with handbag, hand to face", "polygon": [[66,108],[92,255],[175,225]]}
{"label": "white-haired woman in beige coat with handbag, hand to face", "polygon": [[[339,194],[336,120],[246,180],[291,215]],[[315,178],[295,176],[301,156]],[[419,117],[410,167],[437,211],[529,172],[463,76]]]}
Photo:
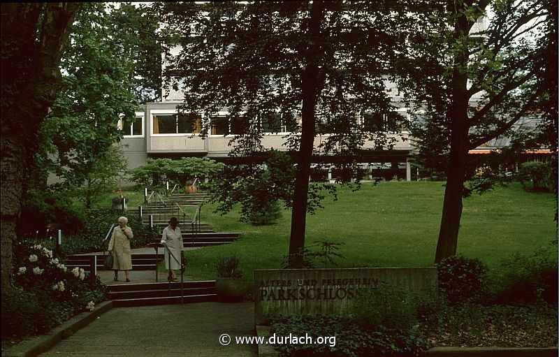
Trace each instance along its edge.
{"label": "white-haired woman in beige coat with handbag, hand to face", "polygon": [[120,217],[118,227],[112,231],[108,251],[112,252],[112,270],[115,270],[115,282],[118,282],[118,271],[124,270],[126,282],[130,282],[130,270],[132,269],[132,255],[130,252],[130,240],[133,238],[132,229],[126,226],[128,219]]}

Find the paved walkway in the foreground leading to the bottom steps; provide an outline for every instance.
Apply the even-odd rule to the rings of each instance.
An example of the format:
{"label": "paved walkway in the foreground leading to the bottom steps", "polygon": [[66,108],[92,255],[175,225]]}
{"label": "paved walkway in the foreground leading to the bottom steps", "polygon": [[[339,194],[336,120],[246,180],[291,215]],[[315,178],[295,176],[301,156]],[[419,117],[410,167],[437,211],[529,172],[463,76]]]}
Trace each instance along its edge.
{"label": "paved walkway in the foreground leading to the bottom steps", "polygon": [[[219,343],[224,333],[228,346]],[[39,356],[258,356],[256,344],[235,343],[253,335],[252,303],[119,307]]]}

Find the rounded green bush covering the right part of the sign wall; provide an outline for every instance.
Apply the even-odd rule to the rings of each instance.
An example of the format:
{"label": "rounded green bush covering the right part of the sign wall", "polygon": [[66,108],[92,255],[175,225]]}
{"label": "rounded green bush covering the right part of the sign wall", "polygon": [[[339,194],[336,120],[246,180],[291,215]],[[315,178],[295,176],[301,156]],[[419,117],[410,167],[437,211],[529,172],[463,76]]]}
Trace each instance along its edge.
{"label": "rounded green bush covering the right part of the sign wall", "polygon": [[358,291],[349,313],[360,326],[372,331],[382,328],[405,330],[417,322],[414,296],[384,282]]}

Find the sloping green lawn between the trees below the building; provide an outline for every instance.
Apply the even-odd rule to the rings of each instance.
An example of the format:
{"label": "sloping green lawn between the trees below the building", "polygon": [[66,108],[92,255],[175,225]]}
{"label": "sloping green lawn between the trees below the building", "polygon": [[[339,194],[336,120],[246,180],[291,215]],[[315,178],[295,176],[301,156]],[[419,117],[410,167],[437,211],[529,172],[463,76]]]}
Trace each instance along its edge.
{"label": "sloping green lawn between the trees below the building", "polygon": [[[339,200],[326,198],[325,208],[307,216],[307,244],[314,240],[344,242],[338,260],[345,267],[428,266],[433,264],[442,210],[442,182],[364,183],[359,191],[340,189]],[[232,245],[187,253],[187,275],[215,278],[217,256],[235,252],[247,278],[252,270],[280,268],[288,252],[291,212],[272,226],[238,221],[238,212],[220,217],[203,207],[202,220],[215,231],[242,233]],[[556,235],[553,194],[532,194],[519,185],[464,200],[458,252],[495,266],[513,252],[531,253]]]}

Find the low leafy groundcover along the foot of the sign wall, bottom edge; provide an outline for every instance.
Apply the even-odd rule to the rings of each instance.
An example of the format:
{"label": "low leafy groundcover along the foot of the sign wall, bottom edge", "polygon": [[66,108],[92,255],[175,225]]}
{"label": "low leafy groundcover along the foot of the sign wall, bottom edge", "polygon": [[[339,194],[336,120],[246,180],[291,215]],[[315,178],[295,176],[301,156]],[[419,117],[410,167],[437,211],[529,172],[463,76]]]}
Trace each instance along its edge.
{"label": "low leafy groundcover along the foot of the sign wall, bottom edge", "polygon": [[271,332],[280,338],[289,334],[296,337],[308,334],[315,340],[326,337],[324,344],[282,341],[275,345],[282,356],[417,356],[427,347],[425,340],[412,330],[371,331],[339,315],[276,316],[272,319]]}

